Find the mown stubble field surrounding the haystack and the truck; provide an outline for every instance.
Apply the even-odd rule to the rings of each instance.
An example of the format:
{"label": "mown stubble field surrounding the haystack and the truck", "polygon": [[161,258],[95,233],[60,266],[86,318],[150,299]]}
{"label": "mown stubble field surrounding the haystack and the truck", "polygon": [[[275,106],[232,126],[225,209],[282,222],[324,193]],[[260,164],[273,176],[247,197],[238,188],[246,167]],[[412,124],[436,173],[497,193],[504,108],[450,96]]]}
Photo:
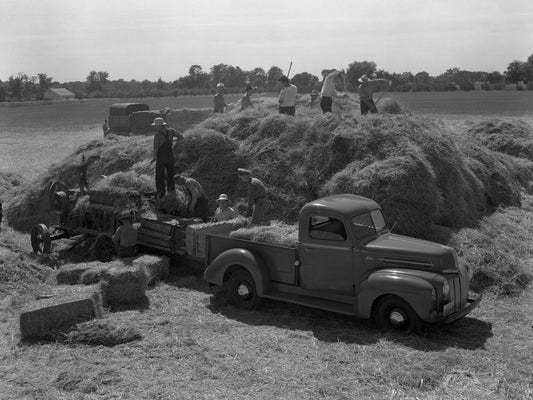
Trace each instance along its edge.
{"label": "mown stubble field surrounding the haystack and the truck", "polygon": [[[533,92],[391,97],[456,132],[489,118],[533,125]],[[149,104],[179,108],[184,105],[171,102],[191,99]],[[194,101],[207,107],[210,98]],[[78,145],[99,138],[113,102],[0,107],[0,171],[35,178]],[[476,228],[481,242],[516,245],[533,267],[532,196],[524,196],[521,207],[496,210]],[[235,309],[207,290],[201,266],[177,260],[170,279],[148,292],[148,309],[110,313],[103,321],[133,329],[140,340],[114,347],[21,345],[18,312],[47,287],[35,278],[40,270],[28,242],[26,234],[6,227],[0,233],[2,400],[533,399],[531,284],[515,296],[486,293],[478,309],[454,324],[399,336],[380,332],[371,321],[282,302],[268,301],[257,311]],[[24,275],[28,268],[22,264],[31,273]]]}

